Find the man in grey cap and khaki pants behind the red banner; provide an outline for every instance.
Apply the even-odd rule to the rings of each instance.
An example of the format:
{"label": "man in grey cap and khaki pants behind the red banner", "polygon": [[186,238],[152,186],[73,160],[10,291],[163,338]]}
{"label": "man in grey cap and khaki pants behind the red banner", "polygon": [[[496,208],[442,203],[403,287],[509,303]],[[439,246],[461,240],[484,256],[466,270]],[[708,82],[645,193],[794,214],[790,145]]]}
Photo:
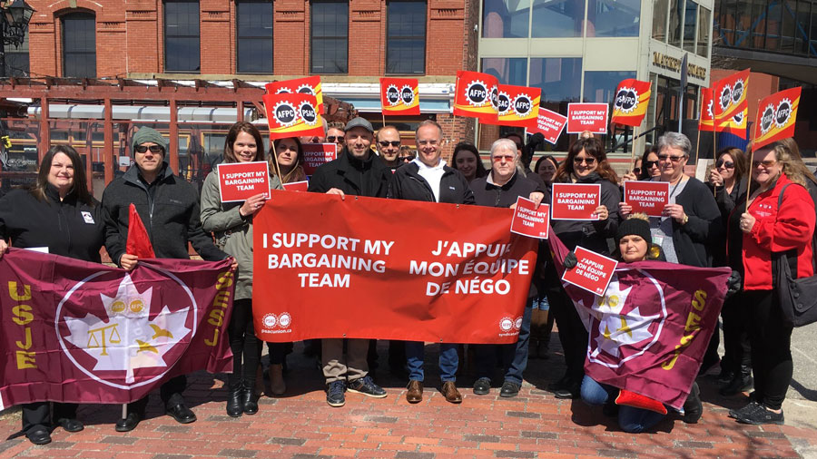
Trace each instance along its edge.
{"label": "man in grey cap and khaki pants behind the red banner", "polygon": [[[363,118],[346,124],[346,144],[338,159],[321,165],[310,180],[311,192],[347,194],[385,198],[391,171],[371,151],[374,130]],[[340,332],[339,332],[340,333]],[[323,376],[326,377],[326,402],[331,406],[346,404],[344,392],[382,398],[386,391],[369,376],[366,356],[369,339],[349,339],[346,360],[343,359],[343,339],[323,339],[321,344]]]}

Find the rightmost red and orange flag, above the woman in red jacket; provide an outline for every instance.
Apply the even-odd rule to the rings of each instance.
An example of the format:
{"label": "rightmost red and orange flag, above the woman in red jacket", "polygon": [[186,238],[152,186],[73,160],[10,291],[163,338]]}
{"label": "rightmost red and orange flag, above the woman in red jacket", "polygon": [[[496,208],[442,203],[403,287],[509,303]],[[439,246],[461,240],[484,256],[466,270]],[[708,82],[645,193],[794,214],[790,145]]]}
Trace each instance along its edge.
{"label": "rightmost red and orange flag, above the woman in red jacket", "polygon": [[794,136],[794,122],[800,107],[800,86],[773,93],[757,104],[757,120],[754,122],[753,150],[763,145]]}

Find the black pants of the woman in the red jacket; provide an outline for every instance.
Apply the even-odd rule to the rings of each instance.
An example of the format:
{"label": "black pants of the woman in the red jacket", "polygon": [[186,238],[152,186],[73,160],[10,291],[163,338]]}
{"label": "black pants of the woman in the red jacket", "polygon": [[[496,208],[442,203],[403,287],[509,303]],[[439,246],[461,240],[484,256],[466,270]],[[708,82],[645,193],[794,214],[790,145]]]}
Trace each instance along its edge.
{"label": "black pants of the woman in the red jacket", "polygon": [[743,298],[752,345],[754,399],[777,410],[792,383],[792,327],[783,325],[783,311],[772,290],[748,290]]}

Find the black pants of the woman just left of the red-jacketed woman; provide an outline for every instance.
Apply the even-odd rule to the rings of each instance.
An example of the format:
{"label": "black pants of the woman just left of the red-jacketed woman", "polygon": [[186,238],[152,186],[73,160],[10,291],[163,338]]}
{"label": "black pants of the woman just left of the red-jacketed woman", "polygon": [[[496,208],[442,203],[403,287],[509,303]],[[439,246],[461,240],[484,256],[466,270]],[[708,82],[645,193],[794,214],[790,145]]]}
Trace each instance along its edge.
{"label": "black pants of the woman just left of the red-jacketed woman", "polygon": [[723,361],[721,367],[740,376],[752,369],[749,335],[746,333],[745,320],[746,300],[743,292],[734,294],[723,303],[721,319],[723,320]]}

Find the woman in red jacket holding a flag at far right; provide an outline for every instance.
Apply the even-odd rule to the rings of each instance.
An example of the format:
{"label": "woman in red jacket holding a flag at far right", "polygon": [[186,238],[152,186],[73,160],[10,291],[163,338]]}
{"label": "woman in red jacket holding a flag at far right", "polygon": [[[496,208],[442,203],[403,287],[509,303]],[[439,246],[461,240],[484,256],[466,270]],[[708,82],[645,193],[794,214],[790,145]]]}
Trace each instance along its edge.
{"label": "woman in red jacket holding a flag at far right", "polygon": [[775,255],[785,252],[790,262],[796,262],[792,272],[798,278],[813,275],[814,201],[783,142],[753,152],[752,179],[748,211],[744,195],[729,219],[728,253],[733,269],[743,271],[754,392],[748,405],[729,415],[743,424],[783,424],[781,406],[792,382],[792,327],[783,324],[773,260],[776,263]]}

